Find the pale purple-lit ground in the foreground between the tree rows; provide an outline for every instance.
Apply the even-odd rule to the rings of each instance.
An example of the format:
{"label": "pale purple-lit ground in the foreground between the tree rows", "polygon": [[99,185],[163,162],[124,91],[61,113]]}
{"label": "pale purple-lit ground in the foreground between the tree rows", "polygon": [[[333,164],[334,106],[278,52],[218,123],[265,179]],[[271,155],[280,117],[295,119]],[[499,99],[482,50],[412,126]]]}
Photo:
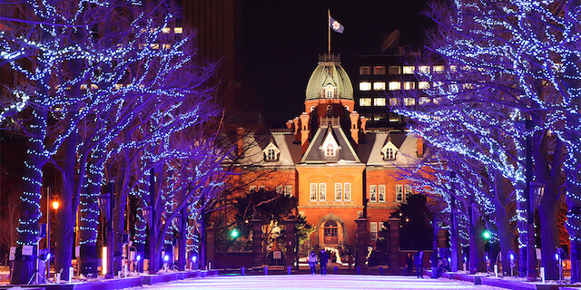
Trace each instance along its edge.
{"label": "pale purple-lit ground in the foreground between the tree rows", "polygon": [[242,289],[502,289],[445,278],[418,279],[397,275],[222,275],[145,286],[148,290]]}

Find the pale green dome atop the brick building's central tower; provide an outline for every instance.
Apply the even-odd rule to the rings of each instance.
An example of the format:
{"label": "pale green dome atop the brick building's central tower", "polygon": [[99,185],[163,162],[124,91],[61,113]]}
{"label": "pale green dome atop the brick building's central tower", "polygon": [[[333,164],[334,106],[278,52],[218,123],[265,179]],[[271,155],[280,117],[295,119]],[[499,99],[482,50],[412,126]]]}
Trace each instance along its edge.
{"label": "pale green dome atop the brick building's central tower", "polygon": [[[325,87],[329,85],[335,89],[332,97],[325,95]],[[334,54],[320,55],[319,65],[307,84],[307,101],[326,98],[353,100],[353,85],[349,75],[341,66],[339,56]]]}

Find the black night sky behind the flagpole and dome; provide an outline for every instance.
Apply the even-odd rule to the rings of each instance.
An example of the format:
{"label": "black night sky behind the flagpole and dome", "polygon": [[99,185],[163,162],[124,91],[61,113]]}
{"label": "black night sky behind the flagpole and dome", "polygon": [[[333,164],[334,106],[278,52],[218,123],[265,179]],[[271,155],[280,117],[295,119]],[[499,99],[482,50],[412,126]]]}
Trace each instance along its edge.
{"label": "black night sky behind the flagpole and dome", "polygon": [[355,55],[379,54],[383,36],[398,29],[400,44],[420,46],[426,0],[243,1],[242,58],[251,90],[269,124],[281,126],[304,111],[310,73],[327,53],[327,10],[345,26],[331,32],[331,52],[354,73]]}

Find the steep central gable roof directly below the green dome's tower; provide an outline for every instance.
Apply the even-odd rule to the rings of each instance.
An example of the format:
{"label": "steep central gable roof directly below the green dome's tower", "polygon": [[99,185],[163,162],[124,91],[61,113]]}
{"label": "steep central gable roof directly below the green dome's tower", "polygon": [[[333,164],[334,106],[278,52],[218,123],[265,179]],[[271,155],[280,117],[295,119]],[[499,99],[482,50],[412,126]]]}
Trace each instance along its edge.
{"label": "steep central gable roof directly below the green dome's tower", "polygon": [[[332,134],[333,138],[337,141],[340,146],[340,150],[337,151],[335,157],[325,157],[324,150],[320,150],[320,145],[322,145],[325,137],[327,137],[328,132]],[[345,132],[340,128],[340,126],[332,127],[320,127],[312,138],[309,148],[305,152],[300,160],[300,163],[360,163],[359,157]]]}

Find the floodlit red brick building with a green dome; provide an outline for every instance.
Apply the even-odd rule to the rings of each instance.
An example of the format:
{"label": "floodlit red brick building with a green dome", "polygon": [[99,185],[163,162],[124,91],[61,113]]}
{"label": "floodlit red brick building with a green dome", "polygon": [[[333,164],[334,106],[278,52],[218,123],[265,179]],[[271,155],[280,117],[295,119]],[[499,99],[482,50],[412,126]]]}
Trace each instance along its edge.
{"label": "floodlit red brick building with a green dome", "polygon": [[[300,215],[316,227],[313,247],[355,244],[357,218],[367,218],[366,244],[374,245],[383,222],[406,202],[411,188],[399,179],[398,166],[423,156],[423,143],[405,131],[369,130],[354,111],[353,87],[338,55],[320,55],[305,95],[305,111],[287,128],[259,140],[241,137],[241,164],[253,171],[248,189],[276,189],[299,198]],[[270,174],[261,173],[270,171]]]}

